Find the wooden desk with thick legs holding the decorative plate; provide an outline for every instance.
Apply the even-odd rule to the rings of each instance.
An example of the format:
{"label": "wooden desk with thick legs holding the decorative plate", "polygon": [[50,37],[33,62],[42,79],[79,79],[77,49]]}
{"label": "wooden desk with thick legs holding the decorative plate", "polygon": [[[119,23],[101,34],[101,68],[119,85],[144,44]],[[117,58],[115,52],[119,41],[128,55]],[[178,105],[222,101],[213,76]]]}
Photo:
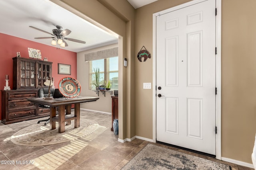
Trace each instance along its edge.
{"label": "wooden desk with thick legs holding the decorative plate", "polygon": [[[80,103],[84,102],[94,102],[99,98],[96,97],[87,97],[87,96],[79,96],[79,98],[58,98],[58,99],[50,99],[45,100],[44,98],[29,98],[27,99],[30,102],[42,105],[50,106],[50,128],[56,129],[56,121],[59,123],[59,133],[63,133],[65,131],[65,122],[66,121],[75,121],[75,128],[80,127]],[[71,104],[75,105],[74,116],[68,117],[65,116],[65,106],[70,106]],[[56,117],[56,107],[58,107],[58,117]]]}

